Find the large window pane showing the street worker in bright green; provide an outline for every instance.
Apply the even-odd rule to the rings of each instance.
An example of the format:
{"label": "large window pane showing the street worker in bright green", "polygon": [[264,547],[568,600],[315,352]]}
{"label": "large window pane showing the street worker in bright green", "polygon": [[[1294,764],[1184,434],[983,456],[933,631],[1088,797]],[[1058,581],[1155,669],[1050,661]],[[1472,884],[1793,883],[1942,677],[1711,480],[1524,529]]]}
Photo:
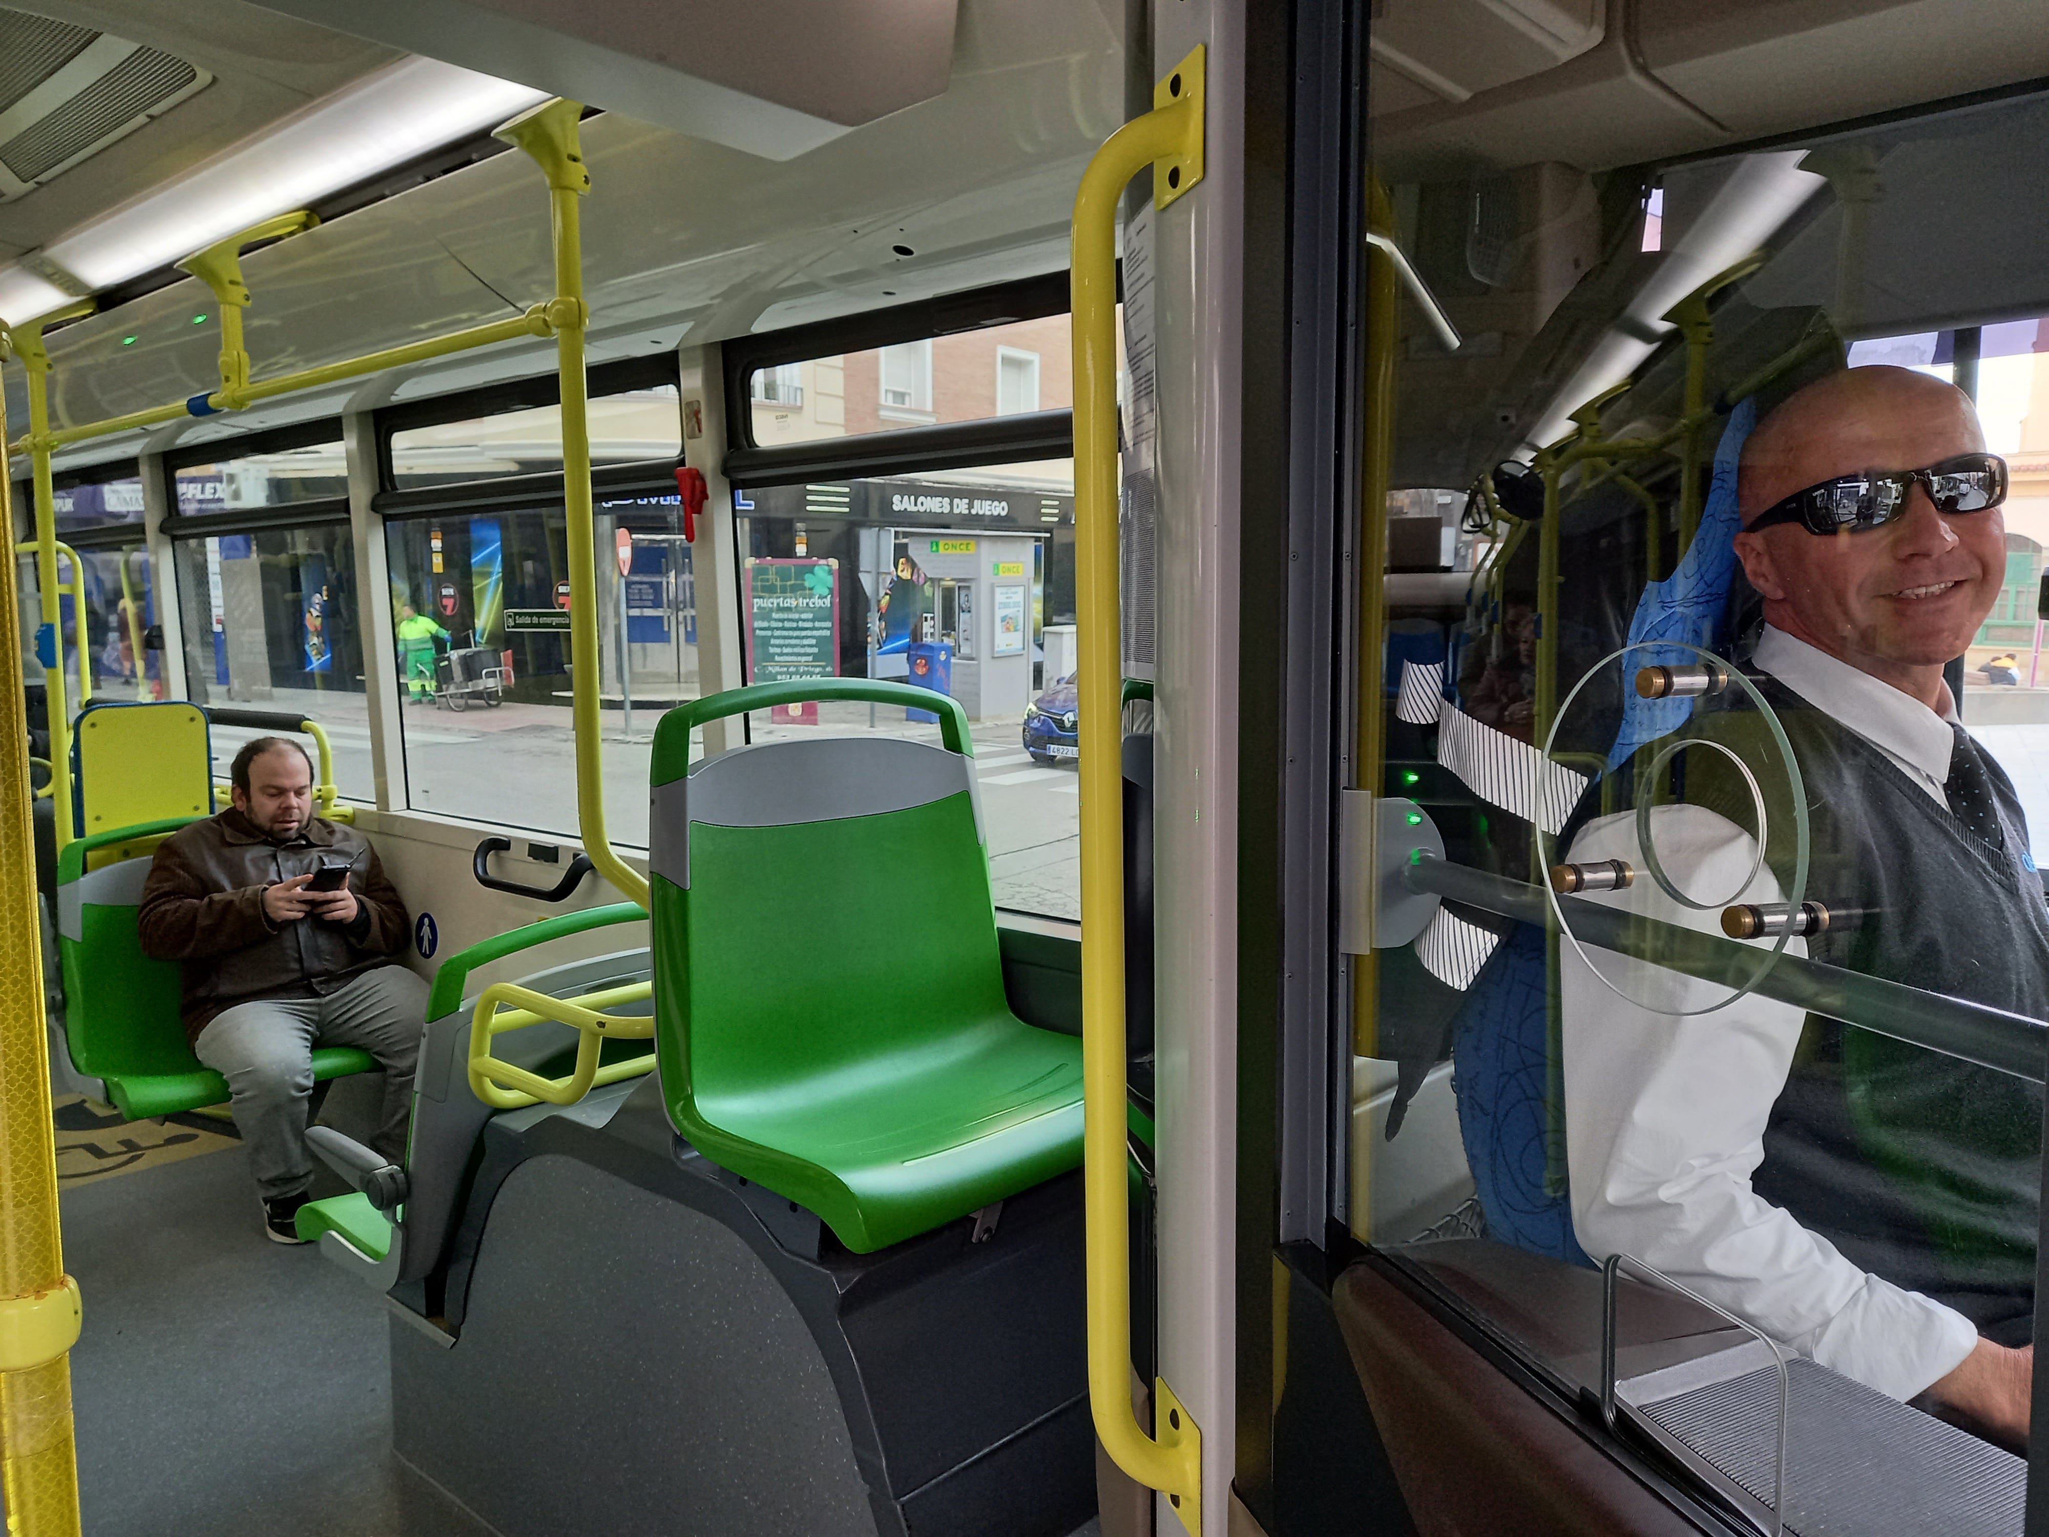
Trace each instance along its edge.
{"label": "large window pane showing the street worker in bright green", "polygon": [[[611,559],[621,529],[625,576]],[[602,502],[596,541],[609,832],[645,846],[656,721],[699,695],[691,545],[674,496]],[[391,521],[385,549],[412,807],[574,838],[561,508]]]}

